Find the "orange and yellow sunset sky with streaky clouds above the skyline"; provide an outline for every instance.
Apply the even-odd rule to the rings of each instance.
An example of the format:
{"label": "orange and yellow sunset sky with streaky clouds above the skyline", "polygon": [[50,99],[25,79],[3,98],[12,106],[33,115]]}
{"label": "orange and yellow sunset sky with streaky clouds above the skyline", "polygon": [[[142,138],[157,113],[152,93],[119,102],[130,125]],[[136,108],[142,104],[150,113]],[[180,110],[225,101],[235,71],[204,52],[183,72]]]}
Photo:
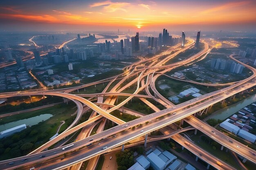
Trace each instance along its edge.
{"label": "orange and yellow sunset sky with streaky clouds above the skyline", "polygon": [[255,31],[255,0],[0,0],[0,31]]}

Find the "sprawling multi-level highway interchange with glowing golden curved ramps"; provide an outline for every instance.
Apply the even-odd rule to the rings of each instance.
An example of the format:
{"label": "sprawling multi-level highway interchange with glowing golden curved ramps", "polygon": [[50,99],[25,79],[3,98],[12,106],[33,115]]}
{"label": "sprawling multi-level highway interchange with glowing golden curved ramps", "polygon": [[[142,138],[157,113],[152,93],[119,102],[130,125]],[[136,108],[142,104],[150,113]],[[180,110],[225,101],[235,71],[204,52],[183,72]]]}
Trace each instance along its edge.
{"label": "sprawling multi-level highway interchange with glowing golden curved ramps", "polygon": [[[184,119],[189,124],[191,124],[191,126],[202,131],[203,133],[211,137],[213,140],[216,140],[223,146],[229,148],[230,150],[233,150],[239,155],[242,155],[248,160],[255,162],[255,156],[252,154],[252,153],[255,153],[254,150],[247,148],[243,144],[240,144],[239,142],[234,140],[233,140],[233,143],[231,144],[229,142],[230,139],[227,140],[228,137],[226,135],[222,134],[218,130],[215,130],[213,127],[205,124],[199,119],[191,116],[199,112],[200,110],[203,110],[204,108],[212,106],[213,104],[220,102],[223,99],[226,99],[227,97],[230,97],[236,93],[239,93],[241,91],[244,91],[248,88],[255,86],[256,84],[255,68],[247,66],[240,62],[247,68],[251,69],[254,72],[254,75],[240,82],[232,83],[233,85],[227,88],[223,88],[221,90],[214,91],[206,95],[202,95],[196,99],[191,99],[188,102],[184,102],[176,106],[173,105],[171,102],[165,99],[160,93],[157,92],[155,88],[155,80],[157,79],[157,77],[179,66],[189,64],[198,59],[200,60],[200,57],[209,53],[210,51],[208,44],[204,42],[204,49],[199,53],[187,58],[186,60],[172,63],[169,65],[164,65],[168,60],[175,57],[177,54],[185,51],[186,49],[191,48],[193,44],[194,44],[194,41],[191,39],[188,39],[188,43],[184,48],[180,48],[179,45],[171,47],[170,49],[164,51],[159,55],[154,56],[153,58],[141,60],[139,62],[135,62],[134,64],[131,64],[130,66],[126,66],[124,68],[124,73],[121,75],[111,77],[110,79],[107,79],[107,80],[104,79],[105,82],[110,81],[107,87],[110,87],[110,84],[115,81],[118,81],[118,83],[114,87],[112,87],[110,89],[110,92],[108,93],[106,93],[106,88],[105,88],[103,93],[87,95],[87,97],[96,96],[98,98],[97,103],[98,104],[102,103],[102,105],[100,106],[97,106],[96,104],[90,102],[89,100],[81,97],[86,95],[70,94],[70,92],[78,90],[79,88],[84,88],[88,85],[83,85],[76,88],[68,89],[65,91],[65,93],[55,92],[55,91],[34,91],[34,92],[29,91],[25,93],[23,92],[1,93],[0,94],[1,98],[13,97],[13,96],[27,96],[27,95],[55,95],[55,96],[65,97],[65,98],[71,99],[73,102],[76,103],[76,105],[78,106],[78,114],[72,126],[70,126],[69,129],[65,130],[62,134],[58,135],[55,139],[47,142],[45,145],[31,152],[31,154],[29,154],[28,156],[1,161],[0,167],[1,168],[3,167],[4,169],[15,169],[15,168],[29,169],[29,167],[34,166],[36,169],[40,168],[42,170],[49,170],[49,169],[57,170],[57,169],[67,168],[77,163],[80,163],[82,161],[91,159],[95,156],[101,155],[104,152],[109,152],[111,151],[111,149],[116,148],[117,146],[121,146],[127,143],[128,141],[131,141],[132,139],[145,136],[146,134],[148,134],[149,132],[152,132],[153,130],[163,128],[166,125],[172,124],[175,121],[178,121],[180,119]],[[173,51],[174,53],[171,54],[171,52]],[[234,55],[231,55],[230,57],[233,60],[236,60],[234,59],[233,56]],[[128,79],[129,77],[132,77],[132,80],[127,84],[124,84],[125,80]],[[104,81],[102,80],[96,83],[100,83]],[[92,83],[90,85],[94,85],[94,84]],[[122,93],[122,91],[124,91],[125,89],[128,89],[128,87],[132,85],[137,85],[137,89],[133,94]],[[154,94],[150,93],[149,87],[153,90]],[[138,94],[140,91],[143,91],[143,90],[146,91],[147,95]],[[117,100],[118,95],[126,95],[128,97],[123,102],[113,107],[113,105]],[[104,96],[106,96],[105,101],[103,101]],[[126,104],[126,102],[132,99],[132,97],[140,97],[140,98],[143,98],[142,100],[146,100],[146,98],[152,98],[157,102],[159,102],[160,104],[162,104],[164,107],[166,107],[166,109],[157,110],[153,106],[153,104],[150,104],[150,102],[145,102],[151,108],[155,108],[154,110],[156,112],[150,115],[146,115],[144,117],[140,117],[139,119],[135,119],[128,123],[110,115],[110,113],[113,110],[116,110],[122,107],[124,104]],[[93,113],[94,115],[88,121],[85,121],[82,124],[75,126],[75,124],[79,120],[79,117],[81,117],[83,113],[83,104],[92,108],[92,110],[95,111]],[[110,104],[112,106],[108,107],[107,104]],[[96,113],[99,113],[100,115],[96,116]],[[106,117],[107,119],[110,119],[111,121],[119,125],[115,126],[114,128],[99,132],[93,136],[85,135],[83,137],[80,137],[81,140],[79,139],[79,141],[74,142],[74,146],[67,148],[64,151],[62,150],[63,147],[60,147],[60,148],[55,148],[53,150],[40,152],[45,148],[48,148],[52,144],[56,143],[57,141],[63,139],[63,137],[66,137],[72,134],[76,130],[83,127],[94,125],[95,121],[99,120],[102,117]],[[103,139],[105,137],[107,138]],[[93,141],[89,141],[90,139],[93,139]],[[99,141],[101,145],[98,145]],[[96,142],[96,143],[95,144],[93,143],[91,146],[85,147],[86,145],[92,142]],[[240,148],[238,148],[237,146],[240,146]],[[107,147],[107,148],[103,150],[102,149],[103,147]],[[63,157],[64,152],[67,153],[67,156],[65,157],[65,159],[61,160],[60,158]],[[72,153],[69,153],[69,152],[72,152]],[[40,155],[45,155],[45,157],[39,159]],[[204,155],[207,155],[207,153],[206,154],[204,153]],[[26,163],[21,161],[22,159],[25,159],[25,158],[28,158],[28,161],[26,161]],[[10,162],[14,162],[14,164],[9,165],[8,163]],[[216,164],[216,161],[215,162],[212,161],[210,164],[212,166],[215,166],[216,168],[220,168]],[[25,167],[22,168],[23,166]]]}

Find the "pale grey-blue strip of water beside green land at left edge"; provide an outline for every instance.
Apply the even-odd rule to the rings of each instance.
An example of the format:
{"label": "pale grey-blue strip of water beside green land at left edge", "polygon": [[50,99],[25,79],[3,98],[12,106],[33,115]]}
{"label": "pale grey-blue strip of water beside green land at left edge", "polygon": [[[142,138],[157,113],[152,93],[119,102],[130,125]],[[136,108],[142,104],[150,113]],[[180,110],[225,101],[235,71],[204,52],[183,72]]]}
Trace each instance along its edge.
{"label": "pale grey-blue strip of water beside green land at left edge", "polygon": [[45,120],[49,119],[52,116],[53,115],[51,115],[51,114],[42,114],[42,115],[39,115],[39,116],[30,117],[28,119],[12,121],[12,122],[9,122],[7,124],[0,125],[0,132],[2,132],[3,130],[7,130],[7,129],[10,129],[10,128],[22,125],[22,124],[26,124],[27,126],[36,125],[40,121],[45,121]]}

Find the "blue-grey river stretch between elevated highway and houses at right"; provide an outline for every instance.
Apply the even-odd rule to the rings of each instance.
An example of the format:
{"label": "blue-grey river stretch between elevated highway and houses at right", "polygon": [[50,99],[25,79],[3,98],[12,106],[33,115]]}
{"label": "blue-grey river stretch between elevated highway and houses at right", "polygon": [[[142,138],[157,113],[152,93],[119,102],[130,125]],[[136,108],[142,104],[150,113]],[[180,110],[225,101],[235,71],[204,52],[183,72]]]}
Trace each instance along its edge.
{"label": "blue-grey river stretch between elevated highway and houses at right", "polygon": [[223,108],[221,110],[218,110],[205,118],[204,120],[208,119],[220,119],[224,120],[228,118],[229,116],[233,115],[234,113],[238,112],[240,109],[246,107],[247,105],[253,103],[256,101],[256,94],[252,95],[250,97],[247,97],[246,99],[241,100],[240,102],[237,102],[235,104],[232,104],[231,106],[228,106],[226,108]]}

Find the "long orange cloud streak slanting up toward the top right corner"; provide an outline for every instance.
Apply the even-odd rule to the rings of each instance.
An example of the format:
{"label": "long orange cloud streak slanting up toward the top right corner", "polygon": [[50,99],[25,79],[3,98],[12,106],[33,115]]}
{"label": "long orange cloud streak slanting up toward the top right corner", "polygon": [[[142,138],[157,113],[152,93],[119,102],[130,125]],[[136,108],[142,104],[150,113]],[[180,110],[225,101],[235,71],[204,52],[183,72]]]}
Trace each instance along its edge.
{"label": "long orange cloud streak slanting up toward the top right corner", "polygon": [[204,10],[201,13],[202,14],[207,14],[207,13],[214,13],[214,12],[218,12],[218,11],[223,11],[223,10],[227,10],[227,9],[234,8],[234,7],[240,7],[242,5],[248,4],[249,2],[250,1],[229,2],[229,3],[226,3],[226,4],[222,4],[218,7],[214,7],[214,8],[211,8],[211,9]]}

